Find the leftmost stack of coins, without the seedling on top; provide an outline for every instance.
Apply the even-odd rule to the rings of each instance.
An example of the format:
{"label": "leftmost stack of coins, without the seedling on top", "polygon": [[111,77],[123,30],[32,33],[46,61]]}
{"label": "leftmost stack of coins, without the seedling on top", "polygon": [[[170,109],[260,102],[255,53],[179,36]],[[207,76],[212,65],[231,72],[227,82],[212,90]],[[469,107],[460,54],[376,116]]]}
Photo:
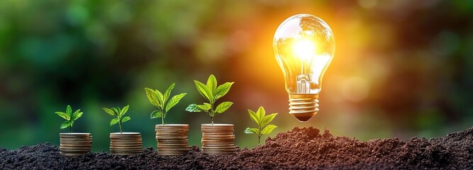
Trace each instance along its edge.
{"label": "leftmost stack of coins, without the seedling on top", "polygon": [[90,152],[92,136],[90,133],[60,133],[60,154],[79,156]]}

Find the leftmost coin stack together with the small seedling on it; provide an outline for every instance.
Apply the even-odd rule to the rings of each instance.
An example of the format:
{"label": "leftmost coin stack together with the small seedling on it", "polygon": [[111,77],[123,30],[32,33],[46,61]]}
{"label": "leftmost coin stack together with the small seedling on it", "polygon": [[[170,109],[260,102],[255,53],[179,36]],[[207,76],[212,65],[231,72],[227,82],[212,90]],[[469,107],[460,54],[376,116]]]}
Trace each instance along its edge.
{"label": "leftmost coin stack together with the small seedling on it", "polygon": [[60,154],[66,156],[77,156],[90,152],[92,147],[92,136],[90,133],[72,132],[74,121],[82,117],[80,109],[72,112],[71,106],[67,105],[66,112],[55,112],[65,121],[61,124],[61,129],[69,128],[69,132],[60,133]]}

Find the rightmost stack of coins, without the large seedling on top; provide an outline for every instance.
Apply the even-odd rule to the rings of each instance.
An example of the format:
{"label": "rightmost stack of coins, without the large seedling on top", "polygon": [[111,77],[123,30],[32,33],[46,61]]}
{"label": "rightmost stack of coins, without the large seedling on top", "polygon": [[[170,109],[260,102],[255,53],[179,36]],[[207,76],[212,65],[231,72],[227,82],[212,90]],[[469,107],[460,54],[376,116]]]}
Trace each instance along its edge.
{"label": "rightmost stack of coins, without the large seedling on top", "polygon": [[204,154],[233,154],[235,135],[230,124],[202,124],[202,152]]}

